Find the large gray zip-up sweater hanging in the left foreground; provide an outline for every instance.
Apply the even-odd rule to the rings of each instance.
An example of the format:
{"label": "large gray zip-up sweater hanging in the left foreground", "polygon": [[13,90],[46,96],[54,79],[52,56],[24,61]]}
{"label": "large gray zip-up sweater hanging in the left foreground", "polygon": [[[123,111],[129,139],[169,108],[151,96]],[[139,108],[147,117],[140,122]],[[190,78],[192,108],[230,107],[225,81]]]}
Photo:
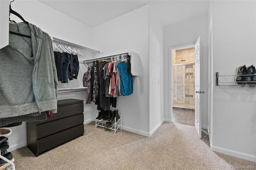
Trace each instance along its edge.
{"label": "large gray zip-up sweater hanging in the left foreground", "polygon": [[0,118],[57,109],[58,79],[50,36],[37,26],[10,23],[9,45],[0,49]]}

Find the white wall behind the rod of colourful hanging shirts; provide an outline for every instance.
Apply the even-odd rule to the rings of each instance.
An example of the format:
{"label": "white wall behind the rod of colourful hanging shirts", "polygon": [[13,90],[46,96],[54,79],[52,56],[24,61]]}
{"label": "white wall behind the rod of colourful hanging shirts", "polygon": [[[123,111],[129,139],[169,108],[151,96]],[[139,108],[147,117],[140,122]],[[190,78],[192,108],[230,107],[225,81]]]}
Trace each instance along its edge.
{"label": "white wall behind the rod of colourful hanging shirts", "polygon": [[99,57],[128,51],[139,54],[140,75],[135,77],[133,93],[118,97],[117,109],[122,128],[145,136],[150,136],[148,18],[147,5],[93,28],[93,45],[104,51]]}

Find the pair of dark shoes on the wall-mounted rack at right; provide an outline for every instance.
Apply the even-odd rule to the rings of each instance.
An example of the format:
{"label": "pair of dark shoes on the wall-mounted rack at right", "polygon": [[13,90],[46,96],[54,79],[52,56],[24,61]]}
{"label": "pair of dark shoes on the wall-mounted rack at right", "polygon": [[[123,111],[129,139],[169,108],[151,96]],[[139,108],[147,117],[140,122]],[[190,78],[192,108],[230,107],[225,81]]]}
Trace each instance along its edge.
{"label": "pair of dark shoes on the wall-mounted rack at right", "polygon": [[235,82],[239,86],[256,86],[256,69],[253,65],[246,68],[245,65],[236,68]]}

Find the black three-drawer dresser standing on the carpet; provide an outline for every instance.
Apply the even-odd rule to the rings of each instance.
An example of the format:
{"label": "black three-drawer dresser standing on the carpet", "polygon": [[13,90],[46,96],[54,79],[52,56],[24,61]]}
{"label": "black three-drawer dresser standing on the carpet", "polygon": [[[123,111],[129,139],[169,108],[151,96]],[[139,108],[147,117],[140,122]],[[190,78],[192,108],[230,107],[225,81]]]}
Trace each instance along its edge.
{"label": "black three-drawer dresser standing on the carpet", "polygon": [[27,122],[28,148],[36,155],[84,134],[83,100],[58,100],[57,113],[45,121]]}

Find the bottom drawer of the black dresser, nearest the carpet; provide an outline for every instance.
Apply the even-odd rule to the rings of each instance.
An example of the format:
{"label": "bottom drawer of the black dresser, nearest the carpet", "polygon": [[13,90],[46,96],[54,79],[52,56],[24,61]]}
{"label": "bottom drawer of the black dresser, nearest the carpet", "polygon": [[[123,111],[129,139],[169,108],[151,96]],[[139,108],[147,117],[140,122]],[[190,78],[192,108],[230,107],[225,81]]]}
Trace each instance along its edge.
{"label": "bottom drawer of the black dresser, nearest the carpet", "polygon": [[60,146],[84,133],[84,124],[64,130],[62,132],[37,140],[37,154],[42,154],[52,148]]}

